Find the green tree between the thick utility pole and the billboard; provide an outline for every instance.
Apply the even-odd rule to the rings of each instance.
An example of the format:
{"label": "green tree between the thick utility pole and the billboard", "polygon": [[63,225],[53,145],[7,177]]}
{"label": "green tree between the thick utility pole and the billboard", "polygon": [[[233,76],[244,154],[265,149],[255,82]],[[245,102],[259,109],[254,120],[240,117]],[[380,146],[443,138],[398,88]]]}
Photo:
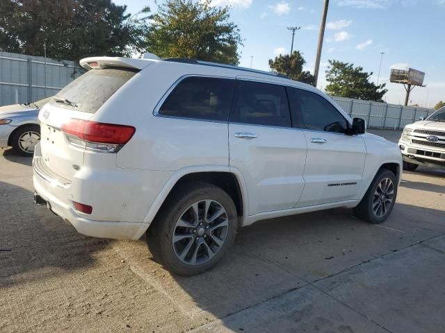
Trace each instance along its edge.
{"label": "green tree between the thick utility pole and the billboard", "polygon": [[382,101],[387,93],[385,83],[375,85],[369,79],[373,73],[366,73],[363,67],[354,67],[348,62],[329,60],[326,71],[327,94],[350,99],[363,99],[366,101]]}

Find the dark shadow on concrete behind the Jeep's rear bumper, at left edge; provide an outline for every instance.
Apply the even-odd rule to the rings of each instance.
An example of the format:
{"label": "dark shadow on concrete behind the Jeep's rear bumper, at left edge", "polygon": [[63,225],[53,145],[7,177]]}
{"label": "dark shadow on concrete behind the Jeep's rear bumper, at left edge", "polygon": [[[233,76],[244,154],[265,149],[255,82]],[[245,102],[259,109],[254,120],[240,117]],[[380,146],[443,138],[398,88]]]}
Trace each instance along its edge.
{"label": "dark shadow on concrete behind the Jeep's rear bumper, at left edge", "polygon": [[93,254],[108,246],[33,205],[31,191],[6,182],[0,182],[0,212],[0,289],[92,266]]}

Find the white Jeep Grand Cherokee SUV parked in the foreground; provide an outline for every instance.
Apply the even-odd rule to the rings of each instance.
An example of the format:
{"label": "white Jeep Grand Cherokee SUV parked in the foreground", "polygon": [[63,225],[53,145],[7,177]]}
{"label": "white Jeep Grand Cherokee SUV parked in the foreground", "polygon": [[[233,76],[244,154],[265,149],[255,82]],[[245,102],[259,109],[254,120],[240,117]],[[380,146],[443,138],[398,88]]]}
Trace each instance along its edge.
{"label": "white Jeep Grand Cherokee SUV parked in the foreground", "polygon": [[398,146],[314,87],[195,60],[81,65],[40,111],[33,182],[82,234],[147,232],[155,259],[193,275],[240,226],[334,207],[380,223],[394,207]]}

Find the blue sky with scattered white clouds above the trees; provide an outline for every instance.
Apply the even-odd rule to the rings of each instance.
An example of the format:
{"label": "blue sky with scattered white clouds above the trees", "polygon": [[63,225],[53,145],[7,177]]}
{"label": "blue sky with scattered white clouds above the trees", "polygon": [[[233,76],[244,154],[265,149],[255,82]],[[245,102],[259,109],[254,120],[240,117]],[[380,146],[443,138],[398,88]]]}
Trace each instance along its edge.
{"label": "blue sky with scattered white clouds above the trees", "polygon": [[[160,0],[161,1],[161,0]],[[156,10],[152,0],[115,0],[132,14],[144,6]],[[268,59],[289,52],[288,26],[300,26],[293,49],[302,52],[307,70],[314,60],[323,0],[213,0],[231,6],[231,17],[241,30],[241,66],[269,70]],[[373,71],[380,83],[387,83],[389,103],[405,99],[402,85],[389,83],[391,67],[412,67],[426,72],[427,87],[416,87],[411,103],[432,107],[445,101],[445,0],[330,0],[327,28],[321,56],[318,87],[325,87],[327,60],[353,62]]]}

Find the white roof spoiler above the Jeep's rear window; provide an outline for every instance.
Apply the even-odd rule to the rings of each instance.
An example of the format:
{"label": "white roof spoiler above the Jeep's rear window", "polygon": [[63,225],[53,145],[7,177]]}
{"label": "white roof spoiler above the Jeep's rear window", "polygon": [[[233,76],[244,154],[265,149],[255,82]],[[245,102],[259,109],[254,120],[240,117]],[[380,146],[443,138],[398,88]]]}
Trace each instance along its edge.
{"label": "white roof spoiler above the Jeep's rear window", "polygon": [[84,69],[104,69],[107,67],[123,67],[130,69],[143,69],[156,59],[133,59],[121,57],[90,57],[83,58],[79,63]]}

